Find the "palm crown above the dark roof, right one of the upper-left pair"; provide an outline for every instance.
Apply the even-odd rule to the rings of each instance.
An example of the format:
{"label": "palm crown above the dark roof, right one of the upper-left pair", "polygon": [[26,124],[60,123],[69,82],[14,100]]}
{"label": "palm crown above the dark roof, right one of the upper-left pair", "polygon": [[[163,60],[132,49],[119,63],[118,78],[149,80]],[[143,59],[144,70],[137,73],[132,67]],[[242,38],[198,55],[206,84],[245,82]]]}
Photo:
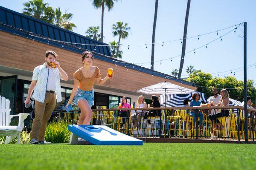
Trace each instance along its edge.
{"label": "palm crown above the dark roof, right one of the upper-left pair", "polygon": [[[67,11],[66,11],[67,12]],[[73,17],[73,14],[71,13],[66,13],[62,14],[61,8],[58,7],[54,11],[54,17],[53,17],[53,24],[55,26],[67,29],[69,31],[73,31],[73,27],[76,27],[76,24],[71,23],[70,20]]]}

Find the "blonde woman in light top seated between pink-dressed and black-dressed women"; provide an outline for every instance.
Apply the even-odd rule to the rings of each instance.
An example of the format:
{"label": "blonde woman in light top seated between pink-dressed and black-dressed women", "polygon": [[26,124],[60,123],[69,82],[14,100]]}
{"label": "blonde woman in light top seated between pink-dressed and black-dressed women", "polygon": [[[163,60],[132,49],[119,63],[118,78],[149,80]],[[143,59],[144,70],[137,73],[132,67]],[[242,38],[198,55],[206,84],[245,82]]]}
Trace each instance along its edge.
{"label": "blonde woman in light top seated between pink-dressed and black-dressed women", "polygon": [[[147,108],[147,103],[145,102],[144,97],[141,95],[137,99],[136,108]],[[136,110],[135,113],[131,115],[131,121],[133,123],[133,128],[137,128],[140,122],[140,119],[145,116],[143,110]]]}

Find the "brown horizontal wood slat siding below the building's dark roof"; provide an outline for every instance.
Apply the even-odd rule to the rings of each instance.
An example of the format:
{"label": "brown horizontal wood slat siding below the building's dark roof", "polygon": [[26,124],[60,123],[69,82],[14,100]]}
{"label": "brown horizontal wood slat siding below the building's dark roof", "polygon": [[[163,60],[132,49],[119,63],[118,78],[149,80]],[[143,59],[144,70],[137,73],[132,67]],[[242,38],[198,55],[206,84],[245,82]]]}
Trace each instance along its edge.
{"label": "brown horizontal wood slat siding below the building's dark roof", "polygon": [[[44,55],[47,50],[53,50],[58,54],[57,60],[60,62],[61,68],[67,72],[69,79],[73,79],[73,73],[82,67],[80,54],[0,31],[0,65],[33,71],[37,65],[44,63]],[[165,81],[162,77],[152,77],[151,74],[145,74],[143,72],[139,74],[139,71],[132,70],[131,68],[127,71],[125,67],[119,65],[116,67],[115,64],[99,59],[94,59],[93,65],[99,67],[102,78],[106,76],[108,68],[113,68],[113,79],[108,80],[104,84],[104,86],[111,88],[137,91],[140,88]],[[196,90],[195,87],[189,85],[171,80],[166,81]]]}

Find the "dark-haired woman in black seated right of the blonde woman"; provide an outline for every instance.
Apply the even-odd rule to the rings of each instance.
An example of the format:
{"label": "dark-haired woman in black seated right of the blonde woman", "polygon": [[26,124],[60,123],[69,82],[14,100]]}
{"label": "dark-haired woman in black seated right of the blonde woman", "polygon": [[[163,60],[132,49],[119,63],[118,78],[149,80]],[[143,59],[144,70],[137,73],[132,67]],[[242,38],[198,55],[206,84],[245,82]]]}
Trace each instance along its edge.
{"label": "dark-haired woman in black seated right of the blonde woman", "polygon": [[[159,99],[156,95],[151,96],[151,101],[152,103],[150,104],[149,108],[160,108],[160,102]],[[147,119],[148,117],[160,117],[161,116],[161,110],[152,110],[152,111],[148,111],[148,113],[145,114],[144,119]],[[148,127],[151,127],[151,121],[148,120]]]}

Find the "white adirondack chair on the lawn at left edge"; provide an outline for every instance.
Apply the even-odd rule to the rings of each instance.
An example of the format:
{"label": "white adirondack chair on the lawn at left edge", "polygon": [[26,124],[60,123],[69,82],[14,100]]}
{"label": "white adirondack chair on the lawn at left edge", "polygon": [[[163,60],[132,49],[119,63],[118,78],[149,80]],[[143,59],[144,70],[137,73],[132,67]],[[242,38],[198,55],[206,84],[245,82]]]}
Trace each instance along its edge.
{"label": "white adirondack chair on the lawn at left edge", "polygon": [[[12,139],[18,136],[17,143],[20,143],[20,133],[24,127],[24,120],[29,113],[20,113],[18,115],[10,115],[10,100],[0,96],[0,136],[6,136],[5,144],[9,144]],[[11,119],[19,116],[18,126],[9,126]]]}

